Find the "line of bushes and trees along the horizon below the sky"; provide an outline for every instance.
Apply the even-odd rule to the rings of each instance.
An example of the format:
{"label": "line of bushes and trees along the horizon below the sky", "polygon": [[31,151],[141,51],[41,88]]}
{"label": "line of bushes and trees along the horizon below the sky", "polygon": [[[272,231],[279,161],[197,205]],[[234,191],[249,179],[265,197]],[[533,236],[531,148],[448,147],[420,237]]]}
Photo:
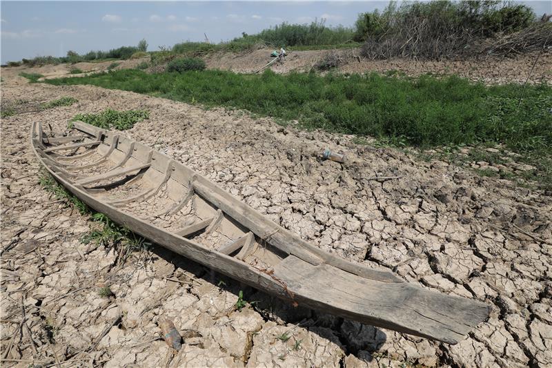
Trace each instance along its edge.
{"label": "line of bushes and trees along the horizon below the sky", "polygon": [[[228,42],[182,42],[162,48],[157,57],[170,59],[171,54],[201,55],[214,51],[242,52],[261,47],[317,49],[362,46],[370,58],[413,57],[440,59],[460,52],[471,52],[484,39],[509,35],[528,28],[550,32],[549,19],[540,24],[531,8],[502,1],[391,1],[383,10],[359,14],[353,27],[326,26],[324,19],[310,24],[282,23],[256,35],[242,33]],[[537,33],[538,33],[537,32]],[[532,32],[531,35],[534,35]],[[537,35],[534,42],[544,42]],[[533,42],[533,43],[534,43]],[[146,40],[138,46],[124,46],[109,51],[90,51],[84,55],[69,51],[66,57],[35,57],[10,65],[59,64],[63,62],[102,59],[129,59],[145,56]],[[481,48],[481,47],[480,47]],[[141,54],[139,52],[142,52]],[[155,54],[156,52],[152,52]],[[153,56],[153,55],[152,55]],[[152,60],[153,61],[153,60]]]}

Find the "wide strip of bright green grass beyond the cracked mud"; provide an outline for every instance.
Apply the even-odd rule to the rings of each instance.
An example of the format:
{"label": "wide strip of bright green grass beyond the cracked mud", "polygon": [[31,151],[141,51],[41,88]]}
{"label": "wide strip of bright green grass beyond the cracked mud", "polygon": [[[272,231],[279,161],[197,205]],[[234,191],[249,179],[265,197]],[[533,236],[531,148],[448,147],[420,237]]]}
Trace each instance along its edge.
{"label": "wide strip of bright green grass beyond the cracked mud", "polygon": [[[552,148],[550,86],[484,86],[460,77],[233,72],[148,74],[119,70],[49,84],[93,84],[206,106],[244,108],[307,128],[401,139],[417,146],[502,142],[517,151]],[[244,93],[244,90],[247,93]]]}

